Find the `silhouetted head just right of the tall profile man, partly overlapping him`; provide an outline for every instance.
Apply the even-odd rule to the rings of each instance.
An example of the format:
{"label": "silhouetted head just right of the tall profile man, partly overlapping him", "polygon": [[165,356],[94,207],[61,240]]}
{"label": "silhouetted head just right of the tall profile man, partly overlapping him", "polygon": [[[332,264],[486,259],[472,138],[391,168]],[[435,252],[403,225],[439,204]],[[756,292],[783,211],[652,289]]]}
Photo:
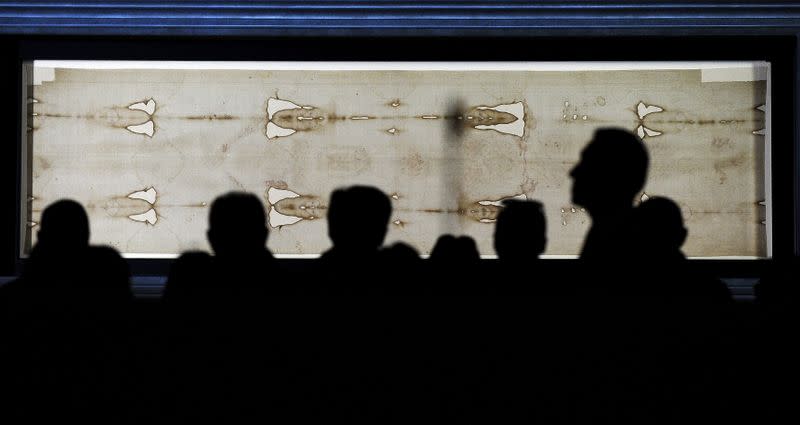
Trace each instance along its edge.
{"label": "silhouetted head just right of the tall profile man, partly overlapping him", "polygon": [[669,198],[651,197],[636,208],[636,234],[647,254],[678,252],[688,234],[681,208]]}

